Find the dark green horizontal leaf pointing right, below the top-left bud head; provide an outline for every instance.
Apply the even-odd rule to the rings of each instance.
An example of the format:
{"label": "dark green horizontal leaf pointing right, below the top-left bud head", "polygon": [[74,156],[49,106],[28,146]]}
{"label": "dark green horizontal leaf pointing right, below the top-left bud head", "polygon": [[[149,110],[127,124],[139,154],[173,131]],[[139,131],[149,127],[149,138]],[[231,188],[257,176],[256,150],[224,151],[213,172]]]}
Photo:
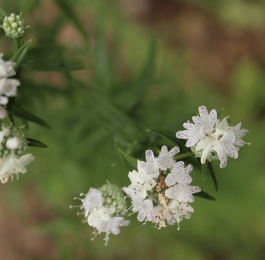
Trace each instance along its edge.
{"label": "dark green horizontal leaf pointing right, below the top-left bud head", "polygon": [[27,59],[21,64],[21,69],[26,71],[73,71],[84,68],[79,62],[58,60]]}

